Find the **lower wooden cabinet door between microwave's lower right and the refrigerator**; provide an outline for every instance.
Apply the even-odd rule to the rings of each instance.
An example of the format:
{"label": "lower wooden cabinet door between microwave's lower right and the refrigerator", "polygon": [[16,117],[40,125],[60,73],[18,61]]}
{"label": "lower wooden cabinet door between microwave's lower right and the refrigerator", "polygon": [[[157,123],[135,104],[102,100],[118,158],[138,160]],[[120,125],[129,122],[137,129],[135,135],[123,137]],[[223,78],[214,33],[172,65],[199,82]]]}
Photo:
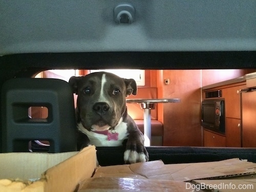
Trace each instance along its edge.
{"label": "lower wooden cabinet door between microwave's lower right and the refrigerator", "polygon": [[226,118],[226,144],[241,147],[241,119]]}

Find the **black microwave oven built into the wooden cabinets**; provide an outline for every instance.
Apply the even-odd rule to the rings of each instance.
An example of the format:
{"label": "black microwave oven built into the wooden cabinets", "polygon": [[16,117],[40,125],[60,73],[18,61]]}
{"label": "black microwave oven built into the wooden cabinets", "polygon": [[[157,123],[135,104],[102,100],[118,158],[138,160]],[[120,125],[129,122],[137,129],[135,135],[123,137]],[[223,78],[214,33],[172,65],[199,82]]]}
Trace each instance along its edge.
{"label": "black microwave oven built into the wooden cabinets", "polygon": [[225,134],[224,99],[205,99],[202,101],[202,126],[205,129]]}

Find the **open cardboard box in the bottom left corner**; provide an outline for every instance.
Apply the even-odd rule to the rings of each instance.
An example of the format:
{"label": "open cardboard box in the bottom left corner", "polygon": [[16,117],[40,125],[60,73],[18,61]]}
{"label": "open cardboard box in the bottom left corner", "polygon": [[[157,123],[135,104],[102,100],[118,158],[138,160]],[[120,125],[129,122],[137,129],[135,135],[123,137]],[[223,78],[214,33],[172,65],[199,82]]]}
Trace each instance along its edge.
{"label": "open cardboard box in the bottom left corner", "polygon": [[0,154],[0,191],[75,191],[96,168],[95,146],[67,153]]}

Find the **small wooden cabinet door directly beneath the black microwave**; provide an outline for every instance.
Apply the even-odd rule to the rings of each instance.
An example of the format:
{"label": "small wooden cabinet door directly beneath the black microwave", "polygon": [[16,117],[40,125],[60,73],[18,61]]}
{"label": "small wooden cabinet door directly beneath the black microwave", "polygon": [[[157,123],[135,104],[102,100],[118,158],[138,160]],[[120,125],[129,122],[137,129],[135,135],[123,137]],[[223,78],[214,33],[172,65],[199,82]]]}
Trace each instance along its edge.
{"label": "small wooden cabinet door directly beneath the black microwave", "polygon": [[204,130],[204,146],[226,146],[226,137]]}

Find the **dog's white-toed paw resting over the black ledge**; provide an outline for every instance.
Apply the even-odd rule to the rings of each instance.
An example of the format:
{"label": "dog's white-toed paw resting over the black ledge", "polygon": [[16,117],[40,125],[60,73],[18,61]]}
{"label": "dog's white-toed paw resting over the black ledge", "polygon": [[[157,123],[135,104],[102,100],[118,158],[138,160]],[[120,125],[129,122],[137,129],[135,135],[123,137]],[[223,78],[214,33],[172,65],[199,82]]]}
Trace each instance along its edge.
{"label": "dog's white-toed paw resting over the black ledge", "polygon": [[146,162],[146,161],[148,161],[148,153],[146,150],[145,150],[145,152],[126,150],[124,152],[123,159],[126,164]]}

